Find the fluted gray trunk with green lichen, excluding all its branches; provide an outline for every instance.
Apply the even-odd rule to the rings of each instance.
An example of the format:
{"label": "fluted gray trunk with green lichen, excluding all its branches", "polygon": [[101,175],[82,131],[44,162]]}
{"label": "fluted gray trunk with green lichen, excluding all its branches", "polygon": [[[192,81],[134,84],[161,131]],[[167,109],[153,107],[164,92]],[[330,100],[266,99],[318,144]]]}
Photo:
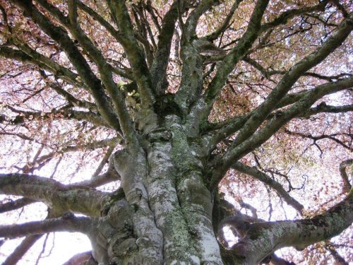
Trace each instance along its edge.
{"label": "fluted gray trunk with green lichen, excluding all its branches", "polygon": [[222,264],[203,163],[178,120],[167,117],[144,148],[116,153],[126,200],[108,206],[107,222],[91,236],[98,262]]}

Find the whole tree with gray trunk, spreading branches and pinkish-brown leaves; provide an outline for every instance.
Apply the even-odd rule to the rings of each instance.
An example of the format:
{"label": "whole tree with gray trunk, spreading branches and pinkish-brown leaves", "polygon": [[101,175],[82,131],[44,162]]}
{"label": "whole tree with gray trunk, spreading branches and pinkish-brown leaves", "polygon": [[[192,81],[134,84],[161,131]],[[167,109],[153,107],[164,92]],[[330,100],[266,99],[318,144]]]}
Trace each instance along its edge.
{"label": "whole tree with gray trunk, spreading branches and pinkish-brown leaves", "polygon": [[[25,237],[5,264],[54,231],[90,238],[92,254],[71,264],[289,264],[275,250],[351,225],[349,1],[0,3],[10,146],[0,192],[20,196],[0,209],[48,207],[45,220],[0,226],[1,237]],[[303,173],[283,168],[297,155],[308,172],[308,154],[319,153],[340,165],[342,192],[315,214],[289,194]],[[93,177],[75,182],[97,159]],[[73,183],[59,181],[65,173]],[[246,192],[224,189],[253,179],[297,218],[263,220],[264,200],[250,205]],[[110,182],[120,185],[95,189]],[[256,183],[250,196],[266,194]]]}

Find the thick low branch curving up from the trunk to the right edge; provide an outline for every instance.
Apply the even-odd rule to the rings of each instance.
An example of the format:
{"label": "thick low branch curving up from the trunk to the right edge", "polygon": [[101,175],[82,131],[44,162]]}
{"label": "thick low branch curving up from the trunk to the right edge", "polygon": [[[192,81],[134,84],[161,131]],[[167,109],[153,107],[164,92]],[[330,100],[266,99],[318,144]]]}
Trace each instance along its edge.
{"label": "thick low branch curving up from the trunk to the right edge", "polygon": [[353,190],[325,213],[303,220],[253,223],[244,238],[232,247],[238,264],[258,264],[282,247],[304,248],[340,234],[353,221]]}

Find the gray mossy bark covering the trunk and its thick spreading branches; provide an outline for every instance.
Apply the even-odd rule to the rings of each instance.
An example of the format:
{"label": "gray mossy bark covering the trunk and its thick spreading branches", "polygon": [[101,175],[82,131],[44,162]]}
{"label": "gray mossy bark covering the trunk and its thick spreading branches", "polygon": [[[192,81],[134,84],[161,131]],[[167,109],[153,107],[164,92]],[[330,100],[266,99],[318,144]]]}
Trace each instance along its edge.
{"label": "gray mossy bark covering the trunk and its thick spreading branches", "polygon": [[[49,218],[21,225],[0,226],[0,237],[28,236],[23,244],[23,249],[28,249],[26,242],[35,241],[45,232],[83,232],[92,242],[92,259],[90,254],[82,256],[82,259],[89,259],[88,264],[259,264],[271,257],[274,263],[283,264],[285,261],[273,255],[276,249],[287,246],[306,247],[333,237],[349,227],[353,221],[353,192],[346,167],[352,164],[352,160],[345,161],[340,167],[345,182],[344,192],[348,193],[346,199],[313,218],[264,222],[241,215],[218,194],[217,185],[227,170],[233,167],[260,179],[301,212],[303,206],[289,196],[279,182],[238,160],[268,141],[291,119],[309,117],[319,112],[352,110],[352,105],[311,106],[325,95],[352,88],[353,78],[338,81],[323,78],[329,82],[301,93],[288,94],[301,76],[308,76],[310,69],[332,54],[349,36],[353,28],[352,14],[345,14],[345,19],[337,26],[335,33],[289,71],[268,72],[248,58],[261,33],[287,23],[294,16],[322,11],[328,1],[321,1],[311,8],[285,11],[273,22],[261,24],[269,1],[258,0],[249,25],[237,44],[228,53],[217,47],[221,55],[208,58],[220,63],[213,80],[205,84],[203,67],[207,60],[203,53],[206,47],[215,47],[213,40],[227,30],[240,2],[235,1],[229,15],[215,33],[199,38],[196,34],[198,20],[213,6],[220,4],[219,1],[175,1],[162,20],[158,44],[151,45],[151,49],[156,47],[155,57],[146,59],[140,48],[139,37],[136,37],[126,1],[107,0],[110,15],[116,23],[114,26],[119,28],[116,30],[100,14],[77,0],[68,1],[68,16],[45,0],[37,0],[36,4],[32,4],[32,1],[13,0],[16,8],[20,8],[24,16],[36,23],[66,53],[76,71],[54,63],[15,37],[9,41],[9,46],[13,45],[16,49],[0,47],[0,55],[34,64],[42,69],[42,74],[43,70],[54,74],[60,71],[59,76],[63,76],[63,80],[87,90],[95,104],[85,100],[77,101],[58,86],[53,88],[64,96],[69,106],[77,101],[78,106],[89,110],[78,112],[65,108],[62,112],[64,117],[87,120],[97,126],[114,129],[116,138],[84,147],[109,146],[109,152],[112,153],[114,145],[119,141],[121,150],[112,154],[110,159],[110,153],[104,157],[97,174],[109,161],[107,172],[95,174],[95,178],[76,184],[64,185],[53,179],[28,174],[1,174],[0,193],[23,196],[25,199],[1,205],[0,210],[7,211],[7,208],[15,209],[42,201],[49,208]],[[196,6],[187,13],[184,24],[182,16],[191,4]],[[100,49],[80,28],[77,8],[97,20],[121,44],[131,66],[131,73],[114,69],[108,63]],[[153,11],[150,9],[150,12]],[[3,12],[3,17],[5,15]],[[167,64],[177,18],[182,33],[180,47],[183,65],[179,90],[175,95],[169,95],[164,94],[167,88]],[[54,24],[54,19],[61,26]],[[158,23],[157,18],[154,23]],[[76,42],[84,53],[80,52]],[[148,40],[143,40],[142,45],[145,50],[150,49]],[[152,52],[148,51],[148,57],[152,56]],[[88,63],[86,57],[92,61]],[[146,60],[150,61],[151,69]],[[241,60],[260,69],[266,78],[274,74],[283,76],[268,98],[255,110],[220,124],[210,124],[208,116],[213,103],[219,97],[229,74]],[[95,64],[95,71],[91,64]],[[128,112],[123,86],[114,81],[113,73],[131,79],[133,86],[136,86],[141,106],[136,108],[136,117],[131,117]],[[287,108],[280,110],[282,107]],[[12,111],[16,112],[16,109]],[[44,116],[42,112],[18,113],[44,119],[59,112],[53,110],[52,113],[44,113]],[[22,116],[8,123],[23,124],[25,119]],[[235,133],[238,133],[236,137]],[[229,136],[235,138],[225,154],[214,155],[213,150],[217,144],[229,140]],[[66,149],[75,151],[80,148],[76,146]],[[47,158],[54,155],[56,152],[50,153]],[[47,158],[42,157],[43,160]],[[121,188],[111,194],[95,189],[116,179],[121,180]],[[78,218],[74,213],[87,217]],[[220,235],[223,225],[230,225],[241,237],[232,249],[227,249],[224,237]],[[81,257],[76,258],[79,260]]]}

